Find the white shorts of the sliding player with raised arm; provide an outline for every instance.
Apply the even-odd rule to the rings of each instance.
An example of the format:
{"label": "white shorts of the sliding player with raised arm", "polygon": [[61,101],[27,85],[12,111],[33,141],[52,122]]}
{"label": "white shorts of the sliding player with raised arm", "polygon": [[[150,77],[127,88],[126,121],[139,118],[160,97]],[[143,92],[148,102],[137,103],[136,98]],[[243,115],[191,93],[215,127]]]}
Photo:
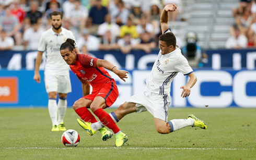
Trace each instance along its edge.
{"label": "white shorts of the sliding player with raised arm", "polygon": [[148,110],[155,118],[168,120],[168,107],[171,104],[170,94],[143,92],[135,94],[127,102],[136,103],[137,113]]}

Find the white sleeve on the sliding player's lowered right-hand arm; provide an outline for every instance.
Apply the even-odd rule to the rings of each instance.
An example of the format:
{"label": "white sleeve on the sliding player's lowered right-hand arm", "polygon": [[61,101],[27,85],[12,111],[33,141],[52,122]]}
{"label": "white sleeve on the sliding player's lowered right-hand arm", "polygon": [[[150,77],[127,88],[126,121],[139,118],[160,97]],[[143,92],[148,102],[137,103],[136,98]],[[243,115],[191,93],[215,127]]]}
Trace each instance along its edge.
{"label": "white sleeve on the sliding player's lowered right-hand arm", "polygon": [[184,76],[193,72],[193,69],[190,67],[188,60],[184,56],[178,57],[175,69],[177,69],[179,72],[182,72]]}

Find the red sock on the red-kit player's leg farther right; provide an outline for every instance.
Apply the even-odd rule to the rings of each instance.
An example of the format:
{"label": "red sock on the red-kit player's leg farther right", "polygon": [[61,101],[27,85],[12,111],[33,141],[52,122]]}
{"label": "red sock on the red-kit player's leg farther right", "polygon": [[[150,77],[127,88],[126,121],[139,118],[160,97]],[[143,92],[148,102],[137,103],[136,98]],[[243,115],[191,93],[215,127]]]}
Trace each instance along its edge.
{"label": "red sock on the red-kit player's leg farther right", "polygon": [[112,129],[114,133],[118,133],[120,131],[120,129],[115,124],[111,116],[102,108],[95,110],[94,114],[100,119],[101,123],[104,126],[107,126],[109,129]]}

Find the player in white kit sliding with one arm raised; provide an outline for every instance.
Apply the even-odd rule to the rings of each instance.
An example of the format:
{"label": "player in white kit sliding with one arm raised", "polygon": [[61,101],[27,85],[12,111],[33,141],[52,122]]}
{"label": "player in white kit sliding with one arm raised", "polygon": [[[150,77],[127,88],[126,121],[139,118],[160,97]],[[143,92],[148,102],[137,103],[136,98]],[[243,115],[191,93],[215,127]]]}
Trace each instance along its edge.
{"label": "player in white kit sliding with one arm raised", "polygon": [[[181,96],[190,95],[191,88],[196,82],[193,69],[189,66],[188,60],[181,54],[181,50],[176,45],[176,38],[168,28],[168,11],[175,11],[176,5],[166,5],[162,10],[160,23],[162,35],[159,36],[160,51],[153,65],[147,88],[143,93],[135,94],[122,104],[117,110],[110,113],[115,122],[118,122],[125,115],[130,113],[140,113],[148,110],[154,116],[157,132],[167,134],[181,128],[192,126],[206,129],[203,120],[189,115],[186,119],[172,119],[167,121],[168,107],[170,105],[171,82],[178,72],[189,76],[189,81],[181,86]],[[101,122],[91,124],[91,128],[97,130],[101,127]]]}

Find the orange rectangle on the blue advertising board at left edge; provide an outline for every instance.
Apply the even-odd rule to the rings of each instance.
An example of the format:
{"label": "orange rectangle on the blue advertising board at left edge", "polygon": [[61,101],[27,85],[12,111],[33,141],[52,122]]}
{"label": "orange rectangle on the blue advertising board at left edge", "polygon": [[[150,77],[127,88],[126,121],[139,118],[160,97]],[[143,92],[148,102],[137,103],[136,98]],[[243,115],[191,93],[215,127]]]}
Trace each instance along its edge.
{"label": "orange rectangle on the blue advertising board at left edge", "polygon": [[16,77],[0,78],[0,103],[18,102],[18,80]]}

